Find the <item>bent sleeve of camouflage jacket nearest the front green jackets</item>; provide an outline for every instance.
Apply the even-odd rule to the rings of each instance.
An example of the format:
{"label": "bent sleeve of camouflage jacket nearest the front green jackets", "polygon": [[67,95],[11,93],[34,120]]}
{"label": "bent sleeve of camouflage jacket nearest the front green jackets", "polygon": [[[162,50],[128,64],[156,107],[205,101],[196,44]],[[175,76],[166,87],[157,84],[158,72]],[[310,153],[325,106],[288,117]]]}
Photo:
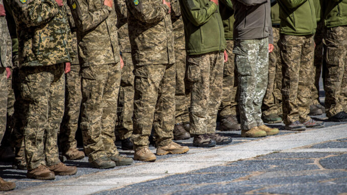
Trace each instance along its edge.
{"label": "bent sleeve of camouflage jacket nearest the front green jackets", "polygon": [[147,0],[138,0],[138,2],[134,0],[126,1],[129,11],[133,14],[132,16],[147,24],[158,23],[164,19],[169,11],[169,7],[165,4],[152,5]]}

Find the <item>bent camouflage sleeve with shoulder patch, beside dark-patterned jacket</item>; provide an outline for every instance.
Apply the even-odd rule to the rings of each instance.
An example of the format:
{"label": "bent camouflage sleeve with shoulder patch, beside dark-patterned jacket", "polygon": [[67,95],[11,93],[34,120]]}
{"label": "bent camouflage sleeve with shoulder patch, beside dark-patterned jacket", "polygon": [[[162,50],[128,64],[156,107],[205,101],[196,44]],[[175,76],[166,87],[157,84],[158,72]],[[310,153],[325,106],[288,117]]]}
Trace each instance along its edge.
{"label": "bent camouflage sleeve with shoulder patch, beside dark-patterned jacket", "polygon": [[97,27],[109,17],[112,8],[103,5],[99,10],[89,11],[86,0],[68,1],[70,10],[75,20],[75,25],[81,32]]}

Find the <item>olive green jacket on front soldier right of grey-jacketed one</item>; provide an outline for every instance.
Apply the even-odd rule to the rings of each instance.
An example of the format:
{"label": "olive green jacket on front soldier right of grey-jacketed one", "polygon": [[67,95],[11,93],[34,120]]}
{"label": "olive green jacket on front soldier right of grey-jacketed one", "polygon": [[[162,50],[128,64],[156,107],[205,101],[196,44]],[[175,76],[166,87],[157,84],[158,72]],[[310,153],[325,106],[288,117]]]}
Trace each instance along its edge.
{"label": "olive green jacket on front soldier right of grey-jacketed one", "polygon": [[313,0],[278,0],[280,33],[310,35],[316,32],[317,20]]}

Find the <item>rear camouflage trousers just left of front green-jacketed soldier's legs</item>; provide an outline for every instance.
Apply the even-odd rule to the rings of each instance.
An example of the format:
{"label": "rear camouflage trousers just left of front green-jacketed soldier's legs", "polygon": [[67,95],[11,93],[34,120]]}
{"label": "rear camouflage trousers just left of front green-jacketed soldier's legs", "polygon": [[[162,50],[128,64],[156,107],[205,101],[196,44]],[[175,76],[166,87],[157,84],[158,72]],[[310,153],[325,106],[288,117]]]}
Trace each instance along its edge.
{"label": "rear camouflage trousers just left of front green-jacketed soldier's legs", "polygon": [[186,72],[186,51],[175,50],[176,56],[176,91],[175,91],[175,105],[176,105],[176,121],[175,123],[189,122],[188,107],[190,104],[190,94],[187,90],[188,84],[185,82]]}

